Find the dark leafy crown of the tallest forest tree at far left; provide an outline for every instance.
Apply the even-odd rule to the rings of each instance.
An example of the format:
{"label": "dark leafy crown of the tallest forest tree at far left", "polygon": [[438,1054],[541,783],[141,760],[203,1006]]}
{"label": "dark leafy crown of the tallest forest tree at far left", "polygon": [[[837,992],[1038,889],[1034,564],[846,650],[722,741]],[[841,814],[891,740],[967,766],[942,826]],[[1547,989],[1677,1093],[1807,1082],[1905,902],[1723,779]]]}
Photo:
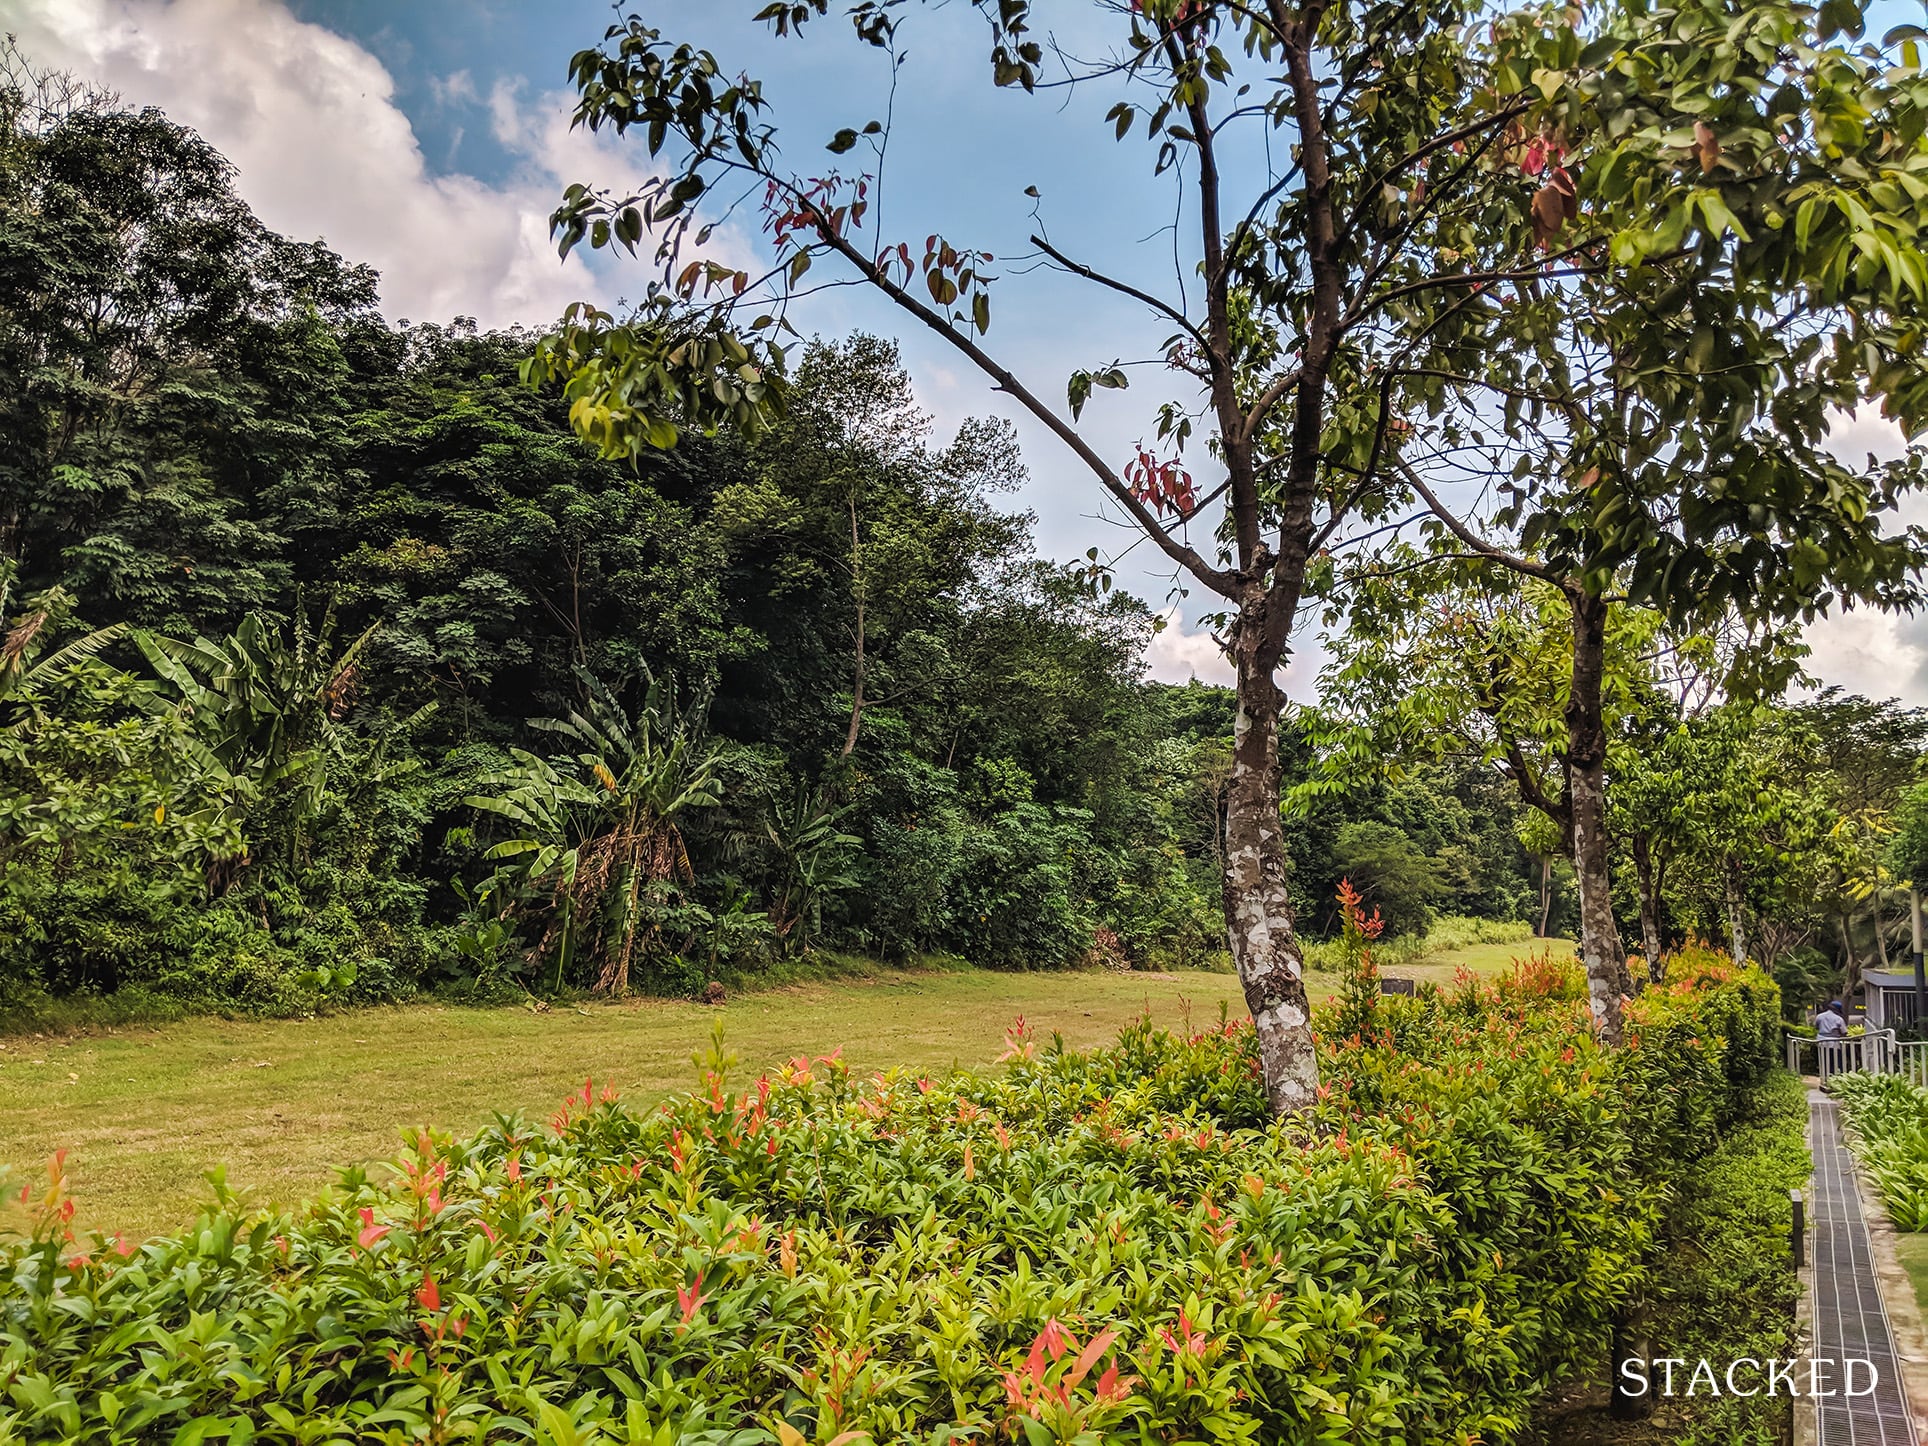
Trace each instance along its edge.
{"label": "dark leafy crown of the tallest forest tree at far left", "polygon": [[[156,110],[0,83],[0,559],[83,615],[218,630],[291,576],[374,274],[268,231]],[[21,81],[39,81],[31,93]]]}

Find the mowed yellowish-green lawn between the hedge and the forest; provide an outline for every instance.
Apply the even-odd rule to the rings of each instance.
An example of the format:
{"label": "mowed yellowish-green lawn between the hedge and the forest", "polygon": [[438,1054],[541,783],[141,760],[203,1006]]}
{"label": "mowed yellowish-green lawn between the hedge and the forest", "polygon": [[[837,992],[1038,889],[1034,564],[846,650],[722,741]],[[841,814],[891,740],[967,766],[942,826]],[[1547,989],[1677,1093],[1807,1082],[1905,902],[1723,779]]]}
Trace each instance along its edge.
{"label": "mowed yellowish-green lawn between the hedge and the forest", "polygon": [[[1535,949],[1540,941],[1535,941]],[[1571,947],[1564,951],[1569,954]],[[1450,983],[1506,968],[1525,945],[1473,945],[1392,974]],[[1313,999],[1338,991],[1307,977]],[[843,1049],[854,1070],[989,1064],[1020,1014],[1043,1041],[1109,1043],[1149,1014],[1165,1028],[1244,1016],[1228,974],[877,970],[721,1008],[679,1001],[459,1008],[409,1004],[320,1020],[187,1020],[156,1030],[0,1037],[0,1168],[35,1174],[58,1149],[83,1230],[141,1238],[193,1222],[204,1172],[256,1203],[326,1190],[345,1165],[389,1159],[424,1124],[470,1132],[494,1112],[546,1120],[586,1078],[650,1105],[696,1084],[692,1053],[723,1020],[754,1076]]]}

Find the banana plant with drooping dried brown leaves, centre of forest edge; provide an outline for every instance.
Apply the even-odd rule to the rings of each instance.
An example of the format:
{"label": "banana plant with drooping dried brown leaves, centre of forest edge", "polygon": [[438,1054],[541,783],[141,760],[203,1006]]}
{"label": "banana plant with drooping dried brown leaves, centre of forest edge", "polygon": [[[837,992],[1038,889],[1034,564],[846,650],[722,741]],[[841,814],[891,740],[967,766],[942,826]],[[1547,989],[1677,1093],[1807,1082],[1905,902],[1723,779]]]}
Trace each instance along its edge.
{"label": "banana plant with drooping dried brown leaves, centre of forest edge", "polygon": [[555,985],[588,947],[596,989],[625,993],[638,945],[657,933],[652,885],[694,883],[677,816],[717,802],[715,756],[702,738],[708,700],[679,710],[673,683],[648,677],[642,706],[625,715],[615,694],[578,673],[580,711],[534,719],[565,738],[540,758],[511,748],[513,765],[488,779],[494,792],[463,802],[507,819],[513,835],[484,858],[505,883],[548,914],[536,954],[555,962]]}

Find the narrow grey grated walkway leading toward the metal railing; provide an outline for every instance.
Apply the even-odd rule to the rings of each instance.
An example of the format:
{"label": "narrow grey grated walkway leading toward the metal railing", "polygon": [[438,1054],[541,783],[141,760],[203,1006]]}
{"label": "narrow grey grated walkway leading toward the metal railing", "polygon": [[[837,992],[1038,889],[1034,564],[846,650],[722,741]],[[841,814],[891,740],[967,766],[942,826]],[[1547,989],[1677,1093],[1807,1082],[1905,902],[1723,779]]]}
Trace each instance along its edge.
{"label": "narrow grey grated walkway leading toward the metal railing", "polygon": [[[1880,1384],[1870,1396],[1818,1400],[1820,1446],[1918,1446],[1903,1394],[1888,1309],[1874,1276],[1874,1245],[1861,1215],[1855,1165],[1841,1141],[1835,1105],[1808,1093],[1808,1143],[1814,1151],[1814,1357],[1874,1363]],[[1841,1367],[1834,1367],[1839,1382]],[[1803,1382],[1805,1386],[1807,1382]]]}

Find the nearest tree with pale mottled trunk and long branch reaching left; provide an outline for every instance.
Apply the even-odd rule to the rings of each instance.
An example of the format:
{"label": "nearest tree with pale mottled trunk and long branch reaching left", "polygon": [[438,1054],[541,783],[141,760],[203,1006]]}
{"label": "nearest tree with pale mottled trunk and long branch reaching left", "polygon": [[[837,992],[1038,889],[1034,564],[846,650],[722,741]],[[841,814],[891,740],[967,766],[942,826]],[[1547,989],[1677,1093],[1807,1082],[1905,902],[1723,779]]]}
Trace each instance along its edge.
{"label": "nearest tree with pale mottled trunk and long branch reaching left", "polygon": [[[758,13],[792,35],[827,10],[829,0],[808,0]],[[1043,44],[1031,4],[983,0],[977,10],[991,35],[991,79],[1035,89]],[[1064,83],[1114,91],[1107,121],[1118,139],[1143,123],[1155,185],[1178,189],[1180,212],[1195,228],[1188,251],[1201,285],[1180,283],[1168,295],[1097,272],[1041,229],[1031,235],[1039,264],[1143,303],[1168,328],[1159,359],[1195,384],[1161,409],[1157,445],[1139,447],[1126,467],[1078,430],[1095,389],[1126,386],[1122,364],[1078,370],[1064,403],[1047,401],[987,351],[995,258],[983,245],[933,235],[914,249],[866,231],[891,141],[883,121],[854,116],[829,139],[835,154],[868,147],[877,174],[798,174],[777,150],[754,79],[725,81],[735,71],[717,58],[665,40],[640,19],[613,25],[602,48],[571,66],[576,121],[634,129],[667,162],[638,195],[573,187],[555,214],[565,253],[584,239],[634,249],[646,231],[657,237],[661,283],[646,314],[617,324],[578,310],[532,368],[567,376],[578,426],[607,455],[636,457],[673,436],[677,399],[694,401],[686,420],[704,424],[736,399],[738,374],[746,386],[769,386],[767,370],[744,364],[748,347],[731,349],[723,337],[736,335],[744,307],[767,307],[769,293],[775,318],[812,266],[827,260],[956,347],[1080,459],[1192,584],[1222,600],[1240,700],[1226,922],[1280,1112],[1305,1107],[1317,1085],[1278,825],[1276,673],[1307,567],[1348,517],[1384,515],[1388,403],[1409,389],[1402,366],[1427,347],[1490,330],[1459,305],[1475,287],[1540,272],[1531,193],[1515,174],[1481,160],[1513,127],[1552,114],[1556,100],[1581,104],[1571,91],[1581,42],[1564,21],[1488,29],[1475,17],[1483,12],[1471,4],[1353,12],[1325,0],[1257,8],[1147,0],[1112,12],[1114,62],[1064,62]],[[900,6],[860,0],[850,19],[893,69],[902,62]],[[1544,64],[1519,66],[1535,48]],[[1529,69],[1552,73],[1554,83],[1529,85]],[[1280,160],[1238,187],[1240,170],[1224,160],[1242,127],[1290,131],[1292,147],[1269,150]],[[736,191],[765,202],[775,270],[763,283],[684,254],[686,241],[700,245],[706,235],[700,202]],[[740,330],[769,337],[777,324]],[[706,389],[711,382],[717,403]],[[1174,455],[1197,428],[1209,432],[1222,469],[1222,482],[1203,494]],[[1193,528],[1217,503],[1218,524]]]}

